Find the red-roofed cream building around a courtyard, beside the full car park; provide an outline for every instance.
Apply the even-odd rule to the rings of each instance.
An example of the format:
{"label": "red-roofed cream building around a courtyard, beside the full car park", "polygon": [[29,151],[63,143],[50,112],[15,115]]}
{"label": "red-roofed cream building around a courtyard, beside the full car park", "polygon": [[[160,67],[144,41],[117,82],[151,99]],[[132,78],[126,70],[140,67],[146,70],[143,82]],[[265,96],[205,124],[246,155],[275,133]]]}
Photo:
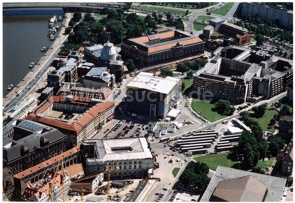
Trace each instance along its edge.
{"label": "red-roofed cream building around a courtyard, beside the full car park", "polygon": [[66,147],[80,145],[114,117],[114,102],[79,96],[52,96],[26,119],[57,128],[66,135]]}

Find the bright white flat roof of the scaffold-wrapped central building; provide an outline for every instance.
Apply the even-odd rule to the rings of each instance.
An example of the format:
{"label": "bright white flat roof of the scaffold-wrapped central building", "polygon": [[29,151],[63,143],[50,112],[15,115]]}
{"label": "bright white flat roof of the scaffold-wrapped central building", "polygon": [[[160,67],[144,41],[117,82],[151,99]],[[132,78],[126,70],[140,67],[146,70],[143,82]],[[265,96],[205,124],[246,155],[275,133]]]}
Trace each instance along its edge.
{"label": "bright white flat roof of the scaffold-wrapped central building", "polygon": [[153,73],[140,72],[127,88],[146,89],[150,91],[168,94],[180,81],[178,78],[167,76],[166,78],[155,77]]}

